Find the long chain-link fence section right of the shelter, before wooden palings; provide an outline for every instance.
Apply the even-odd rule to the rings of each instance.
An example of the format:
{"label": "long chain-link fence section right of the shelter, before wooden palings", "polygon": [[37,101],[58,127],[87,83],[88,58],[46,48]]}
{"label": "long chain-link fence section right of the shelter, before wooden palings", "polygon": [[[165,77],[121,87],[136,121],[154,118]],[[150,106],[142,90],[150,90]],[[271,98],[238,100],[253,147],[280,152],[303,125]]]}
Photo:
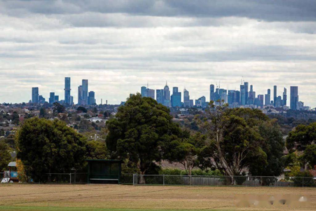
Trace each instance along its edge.
{"label": "long chain-link fence section right of the shelter, before wooden palings", "polygon": [[316,187],[316,177],[133,175],[134,185]]}

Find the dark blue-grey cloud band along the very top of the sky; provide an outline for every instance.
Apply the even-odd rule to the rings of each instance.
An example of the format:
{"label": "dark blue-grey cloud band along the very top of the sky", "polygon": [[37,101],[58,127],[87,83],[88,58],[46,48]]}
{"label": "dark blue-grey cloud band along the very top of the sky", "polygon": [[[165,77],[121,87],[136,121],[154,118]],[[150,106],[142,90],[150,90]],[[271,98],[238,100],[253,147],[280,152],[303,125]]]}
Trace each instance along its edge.
{"label": "dark blue-grey cloud band along the very top of the sky", "polygon": [[[315,21],[314,0],[56,0],[5,1],[9,15],[25,13],[79,14],[83,12],[127,13],[148,16],[247,17],[265,21]],[[13,11],[19,11],[14,13]]]}

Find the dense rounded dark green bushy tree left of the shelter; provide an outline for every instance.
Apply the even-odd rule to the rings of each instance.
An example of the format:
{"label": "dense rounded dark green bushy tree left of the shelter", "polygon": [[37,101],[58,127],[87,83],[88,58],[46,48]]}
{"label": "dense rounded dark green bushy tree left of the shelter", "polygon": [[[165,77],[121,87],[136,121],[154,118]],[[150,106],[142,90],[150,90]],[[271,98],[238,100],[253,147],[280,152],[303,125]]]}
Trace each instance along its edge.
{"label": "dense rounded dark green bushy tree left of the shelter", "polygon": [[16,134],[17,157],[34,181],[46,173],[69,173],[84,164],[85,138],[64,121],[31,118],[24,121]]}

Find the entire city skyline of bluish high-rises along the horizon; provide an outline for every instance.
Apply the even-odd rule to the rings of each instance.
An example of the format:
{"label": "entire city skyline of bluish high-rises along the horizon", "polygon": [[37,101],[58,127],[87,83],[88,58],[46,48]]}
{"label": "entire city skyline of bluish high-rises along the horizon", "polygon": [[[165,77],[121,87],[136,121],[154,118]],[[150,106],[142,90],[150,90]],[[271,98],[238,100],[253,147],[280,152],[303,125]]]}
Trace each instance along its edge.
{"label": "entire city skyline of bluish high-rises along the horizon", "polygon": [[[71,105],[73,103],[73,96],[70,96],[70,90],[71,90],[70,80],[71,80],[70,77],[64,78],[65,99],[64,100],[60,99],[60,102],[68,103]],[[266,94],[260,94],[258,92],[256,93],[253,87],[254,87],[253,84],[249,84],[249,82],[245,82],[241,80],[240,90],[225,89],[225,88],[221,88],[220,82],[219,82],[219,84],[216,83],[216,86],[214,84],[210,84],[210,89],[209,89],[210,98],[209,99],[207,99],[204,95],[197,99],[190,99],[190,95],[189,95],[190,93],[185,88],[183,89],[183,94],[181,93],[181,91],[179,91],[179,87],[175,87],[175,86],[173,86],[172,91],[170,91],[170,88],[166,81],[166,85],[164,89],[155,90],[155,89],[150,89],[149,83],[147,82],[147,86],[141,87],[140,93],[142,96],[151,97],[157,100],[157,102],[164,104],[167,107],[177,107],[177,106],[192,107],[194,101],[195,101],[194,103],[195,106],[206,107],[207,102],[211,100],[216,102],[216,100],[221,99],[221,100],[224,100],[224,102],[228,103],[229,106],[233,108],[239,107],[239,106],[250,106],[250,105],[254,105],[258,108],[263,108],[263,106],[269,106],[269,105],[273,105],[274,107],[286,106],[288,109],[289,108],[306,109],[308,107],[310,109],[312,108],[310,106],[307,106],[307,104],[304,105],[304,102],[302,102],[299,99],[298,86],[290,86],[290,93],[289,93],[290,102],[287,101],[288,92],[287,92],[287,88],[285,87],[283,88],[282,95],[278,95],[277,85],[273,86],[273,100],[271,100],[271,89],[267,89]],[[33,103],[44,103],[46,101],[43,95],[39,95],[38,87],[32,87],[31,96],[32,96],[32,99],[30,101]],[[55,95],[55,92],[50,92],[48,102],[49,103],[59,102],[58,97],[59,96]],[[68,100],[66,100],[67,98]],[[102,98],[101,98],[101,102],[102,102]],[[88,92],[88,79],[82,79],[82,84],[78,86],[77,105],[92,105],[95,103],[96,103],[95,92],[94,91]]]}

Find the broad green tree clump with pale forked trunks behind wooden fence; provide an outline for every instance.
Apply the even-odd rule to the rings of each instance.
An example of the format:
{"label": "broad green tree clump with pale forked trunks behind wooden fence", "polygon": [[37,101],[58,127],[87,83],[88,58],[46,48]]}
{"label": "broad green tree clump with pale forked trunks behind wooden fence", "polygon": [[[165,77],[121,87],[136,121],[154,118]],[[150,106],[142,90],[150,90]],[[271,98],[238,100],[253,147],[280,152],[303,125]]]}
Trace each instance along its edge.
{"label": "broad green tree clump with pale forked trunks behind wooden fence", "polygon": [[[232,182],[233,176],[241,175],[245,167],[250,167],[253,175],[272,176],[280,172],[282,136],[260,110],[229,109],[226,103],[218,101],[210,102],[206,113],[207,119],[200,125],[209,143],[202,154],[204,158],[214,158],[216,168],[230,176]],[[272,170],[274,164],[277,167]]]}

